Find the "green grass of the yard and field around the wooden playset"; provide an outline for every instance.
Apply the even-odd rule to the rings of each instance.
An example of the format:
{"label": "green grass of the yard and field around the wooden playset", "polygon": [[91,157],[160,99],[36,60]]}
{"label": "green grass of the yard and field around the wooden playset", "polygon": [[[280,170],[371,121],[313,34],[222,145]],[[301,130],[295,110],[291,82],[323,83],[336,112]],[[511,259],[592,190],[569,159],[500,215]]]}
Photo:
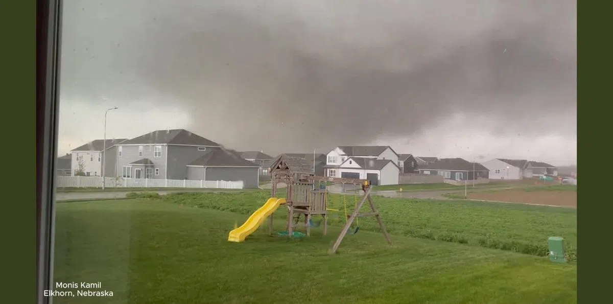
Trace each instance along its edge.
{"label": "green grass of the yard and field around the wooden playset", "polygon": [[[394,216],[401,205],[392,207],[392,202],[377,198],[394,245],[387,246],[381,234],[364,229],[347,237],[339,254],[330,256],[327,250],[338,225],[330,227],[326,237],[314,229],[310,238],[290,240],[269,237],[267,229],[260,229],[245,243],[228,242],[234,221],[246,218],[243,210],[253,211],[243,204],[251,205],[248,199],[256,197],[265,195],[200,193],[58,203],[55,281],[101,281],[102,289],[115,295],[54,302],[576,303],[573,263],[405,237],[397,222],[424,218],[422,222],[440,231],[449,230],[445,224],[460,227],[471,218],[495,232],[512,234],[504,231],[520,225],[498,226],[505,218],[500,214],[511,222],[527,210],[503,208],[497,216],[492,205],[457,203],[454,211],[436,215],[446,208],[403,202],[405,215]],[[201,208],[195,208],[197,204]],[[482,218],[484,210],[491,210],[486,213],[495,216],[493,222]],[[408,213],[414,215],[405,218]],[[464,216],[449,218],[452,214]],[[543,214],[543,219],[555,218],[549,215]],[[282,226],[276,221],[277,230]]]}

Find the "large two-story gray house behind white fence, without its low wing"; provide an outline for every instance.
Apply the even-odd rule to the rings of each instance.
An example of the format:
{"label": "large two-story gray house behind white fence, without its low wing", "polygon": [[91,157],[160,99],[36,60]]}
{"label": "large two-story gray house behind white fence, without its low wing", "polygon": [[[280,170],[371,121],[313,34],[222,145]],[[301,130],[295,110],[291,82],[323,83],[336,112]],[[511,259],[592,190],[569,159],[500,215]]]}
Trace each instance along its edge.
{"label": "large two-story gray house behind white fence, without its low wing", "polygon": [[115,176],[184,180],[188,164],[219,149],[218,143],[185,129],[153,131],[116,146]]}

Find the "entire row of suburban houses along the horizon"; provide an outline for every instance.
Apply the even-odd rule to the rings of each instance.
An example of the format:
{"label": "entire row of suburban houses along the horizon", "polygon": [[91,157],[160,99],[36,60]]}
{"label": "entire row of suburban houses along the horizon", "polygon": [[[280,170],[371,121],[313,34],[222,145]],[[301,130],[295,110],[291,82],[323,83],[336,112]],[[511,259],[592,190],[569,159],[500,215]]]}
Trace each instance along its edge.
{"label": "entire row of suburban houses along the horizon", "polygon": [[367,179],[380,185],[398,184],[403,174],[440,175],[455,181],[557,175],[555,167],[543,162],[492,159],[476,163],[397,153],[390,146],[337,146],[327,154],[272,157],[263,151],[229,150],[185,129],[153,131],[132,139],[93,140],[70,152],[58,159],[58,175],[240,180],[245,188],[257,187],[269,178],[270,167],[281,158],[291,159],[314,175]]}

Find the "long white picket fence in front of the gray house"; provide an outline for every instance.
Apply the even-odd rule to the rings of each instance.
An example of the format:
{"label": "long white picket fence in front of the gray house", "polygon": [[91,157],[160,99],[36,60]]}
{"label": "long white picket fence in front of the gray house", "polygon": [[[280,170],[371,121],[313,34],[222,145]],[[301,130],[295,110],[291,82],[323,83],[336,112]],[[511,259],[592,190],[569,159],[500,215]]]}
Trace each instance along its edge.
{"label": "long white picket fence in front of the gray house", "polygon": [[[102,177],[56,177],[58,188],[101,188]],[[243,189],[243,181],[159,180],[105,177],[107,188],[218,188]]]}

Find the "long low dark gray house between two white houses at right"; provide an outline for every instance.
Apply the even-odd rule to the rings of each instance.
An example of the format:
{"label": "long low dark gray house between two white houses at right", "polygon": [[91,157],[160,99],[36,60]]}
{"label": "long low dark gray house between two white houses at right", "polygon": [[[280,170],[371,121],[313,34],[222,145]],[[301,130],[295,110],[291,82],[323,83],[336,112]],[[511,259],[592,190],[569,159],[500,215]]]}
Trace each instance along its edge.
{"label": "long low dark gray house between two white houses at right", "polygon": [[490,170],[484,165],[462,158],[441,158],[417,168],[423,175],[441,175],[447,180],[476,180],[489,178]]}

